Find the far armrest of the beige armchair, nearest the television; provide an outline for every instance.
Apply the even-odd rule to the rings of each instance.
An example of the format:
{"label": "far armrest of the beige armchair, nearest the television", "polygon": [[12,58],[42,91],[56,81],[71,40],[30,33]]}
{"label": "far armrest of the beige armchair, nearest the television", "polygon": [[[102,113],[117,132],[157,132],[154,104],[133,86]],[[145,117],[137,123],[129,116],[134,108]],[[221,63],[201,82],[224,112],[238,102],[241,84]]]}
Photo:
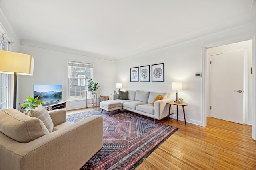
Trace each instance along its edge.
{"label": "far armrest of the beige armchair, nearest the television", "polygon": [[59,125],[60,123],[66,122],[67,112],[65,109],[51,110],[51,111],[48,111],[48,113],[52,119],[54,126]]}

